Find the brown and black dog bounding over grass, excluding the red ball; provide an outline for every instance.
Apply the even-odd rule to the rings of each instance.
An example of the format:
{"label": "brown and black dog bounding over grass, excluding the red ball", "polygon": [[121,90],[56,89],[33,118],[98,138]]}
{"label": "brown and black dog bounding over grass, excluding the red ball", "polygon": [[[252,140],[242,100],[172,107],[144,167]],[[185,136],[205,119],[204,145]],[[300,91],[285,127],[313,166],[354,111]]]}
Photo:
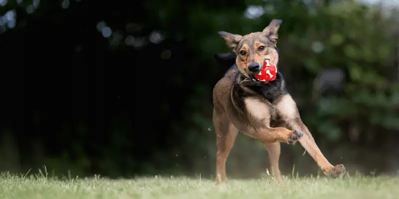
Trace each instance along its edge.
{"label": "brown and black dog bounding over grass, excluding the red ball", "polygon": [[[277,71],[276,79],[260,82],[254,78],[265,60],[278,69],[277,31],[282,23],[273,19],[262,32],[244,36],[220,31],[232,49],[234,65],[213,89],[213,125],[216,131],[216,184],[225,184],[226,159],[238,131],[259,139],[267,149],[272,175],[281,182],[278,166],[280,142],[297,141],[326,174],[337,178],[345,173],[343,165],[333,166],[317,147],[311,133],[303,124],[295,101],[285,88],[284,78]],[[223,56],[223,55],[221,55]],[[224,54],[220,59],[228,59]]]}

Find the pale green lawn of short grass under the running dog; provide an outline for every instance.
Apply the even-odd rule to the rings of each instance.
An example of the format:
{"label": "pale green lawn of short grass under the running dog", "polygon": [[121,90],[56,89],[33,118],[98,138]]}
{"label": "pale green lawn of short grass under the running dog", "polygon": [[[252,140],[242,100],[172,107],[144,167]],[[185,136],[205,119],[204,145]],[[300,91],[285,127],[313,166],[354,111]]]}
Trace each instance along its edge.
{"label": "pale green lawn of short grass under the running dog", "polygon": [[399,177],[233,180],[220,189],[214,180],[54,180],[3,175],[0,199],[399,199]]}

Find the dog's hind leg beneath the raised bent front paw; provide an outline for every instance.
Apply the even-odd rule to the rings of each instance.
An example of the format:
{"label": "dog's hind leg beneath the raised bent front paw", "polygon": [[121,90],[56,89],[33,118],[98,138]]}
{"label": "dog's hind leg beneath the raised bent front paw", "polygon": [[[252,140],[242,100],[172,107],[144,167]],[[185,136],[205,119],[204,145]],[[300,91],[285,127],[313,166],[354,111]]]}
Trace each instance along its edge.
{"label": "dog's hind leg beneath the raised bent front paw", "polygon": [[280,158],[280,151],[281,151],[281,146],[280,142],[275,142],[272,144],[264,144],[267,153],[269,154],[269,162],[270,162],[270,168],[271,168],[271,173],[272,176],[275,178],[277,183],[281,183],[281,173],[280,173],[280,168],[278,166],[278,159]]}

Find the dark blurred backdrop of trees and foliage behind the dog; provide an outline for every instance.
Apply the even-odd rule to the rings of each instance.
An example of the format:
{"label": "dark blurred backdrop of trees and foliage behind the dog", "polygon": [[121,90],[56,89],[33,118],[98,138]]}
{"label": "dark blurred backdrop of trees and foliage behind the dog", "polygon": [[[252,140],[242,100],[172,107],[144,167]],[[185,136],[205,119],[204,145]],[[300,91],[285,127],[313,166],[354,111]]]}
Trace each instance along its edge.
{"label": "dark blurred backdrop of trees and foliage behind the dog", "polygon": [[[399,171],[395,8],[0,0],[0,16],[0,171],[214,176],[211,92],[229,67],[213,57],[229,51],[217,31],[261,31],[273,18],[283,19],[280,71],[327,159],[350,173]],[[319,172],[303,151],[282,144],[283,174],[294,164],[299,175]],[[239,135],[228,175],[260,177],[267,167],[262,145]]]}

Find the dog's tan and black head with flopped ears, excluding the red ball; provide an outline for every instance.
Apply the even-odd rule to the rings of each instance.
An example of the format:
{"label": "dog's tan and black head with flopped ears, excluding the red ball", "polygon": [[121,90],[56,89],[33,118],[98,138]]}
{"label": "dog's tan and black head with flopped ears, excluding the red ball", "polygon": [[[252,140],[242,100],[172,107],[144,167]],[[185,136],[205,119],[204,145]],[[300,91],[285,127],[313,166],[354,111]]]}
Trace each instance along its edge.
{"label": "dog's tan and black head with flopped ears, excluding the red ball", "polygon": [[237,56],[235,63],[244,76],[253,78],[254,74],[262,69],[266,60],[277,66],[277,32],[282,22],[281,19],[273,19],[262,32],[253,32],[244,36],[218,32]]}

